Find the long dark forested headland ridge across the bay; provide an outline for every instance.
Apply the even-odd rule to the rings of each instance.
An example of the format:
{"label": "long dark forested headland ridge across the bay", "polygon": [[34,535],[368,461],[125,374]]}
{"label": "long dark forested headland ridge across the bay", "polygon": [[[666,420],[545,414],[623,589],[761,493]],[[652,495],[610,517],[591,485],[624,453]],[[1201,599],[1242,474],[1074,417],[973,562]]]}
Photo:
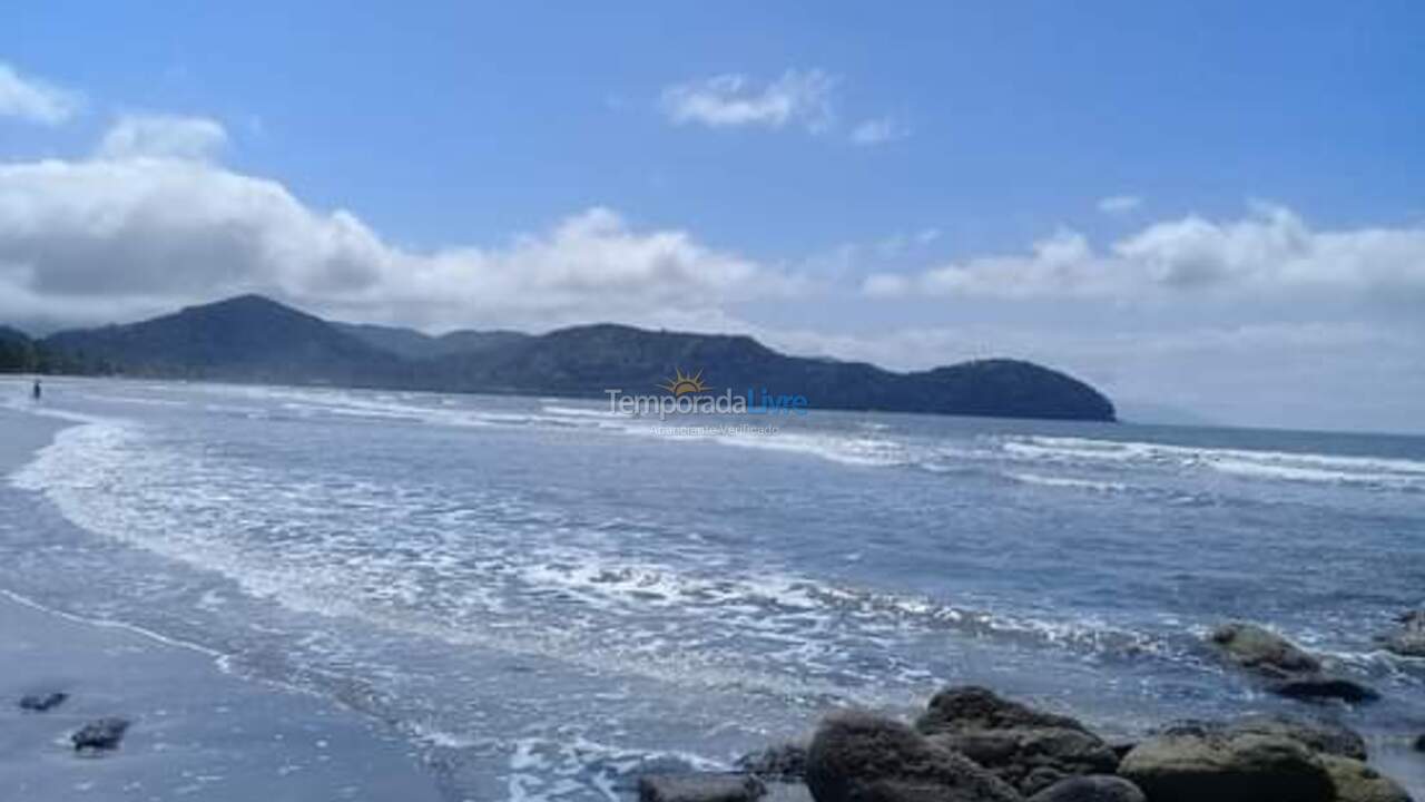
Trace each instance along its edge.
{"label": "long dark forested headland ridge across the bay", "polygon": [[811,407],[1114,420],[1087,384],[1032,362],[978,360],[918,372],[802,358],[744,335],[597,324],[543,335],[328,323],[259,295],[154,320],[64,331],[40,345],[88,372],[603,398],[658,394],[677,371],[712,391],[799,394]]}

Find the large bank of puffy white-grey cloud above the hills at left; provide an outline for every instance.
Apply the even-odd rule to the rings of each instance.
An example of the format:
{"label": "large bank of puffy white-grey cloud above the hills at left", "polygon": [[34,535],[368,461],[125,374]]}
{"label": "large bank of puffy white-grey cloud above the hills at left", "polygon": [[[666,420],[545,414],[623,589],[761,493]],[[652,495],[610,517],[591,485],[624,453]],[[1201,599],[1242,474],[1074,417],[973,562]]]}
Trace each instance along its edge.
{"label": "large bank of puffy white-grey cloud above the hills at left", "polygon": [[673,324],[798,287],[607,208],[497,247],[413,251],[349,211],[314,210],[276,181],[205,161],[0,164],[0,318],[95,323],[258,291],[429,327]]}

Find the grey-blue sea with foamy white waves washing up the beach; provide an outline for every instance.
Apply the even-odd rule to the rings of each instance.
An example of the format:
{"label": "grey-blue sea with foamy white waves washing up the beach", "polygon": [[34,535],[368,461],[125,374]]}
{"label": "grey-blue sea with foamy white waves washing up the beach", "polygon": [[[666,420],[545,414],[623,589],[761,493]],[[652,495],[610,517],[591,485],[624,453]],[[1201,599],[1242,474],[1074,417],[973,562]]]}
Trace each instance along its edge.
{"label": "grey-blue sea with foamy white waves washing up the beach", "polygon": [[1387,696],[1318,712],[1425,731],[1371,642],[1425,602],[1422,438],[47,385],[0,381],[74,424],[0,488],[0,587],[359,709],[452,799],[616,798],[946,682],[1110,732],[1292,709],[1198,645],[1238,616]]}

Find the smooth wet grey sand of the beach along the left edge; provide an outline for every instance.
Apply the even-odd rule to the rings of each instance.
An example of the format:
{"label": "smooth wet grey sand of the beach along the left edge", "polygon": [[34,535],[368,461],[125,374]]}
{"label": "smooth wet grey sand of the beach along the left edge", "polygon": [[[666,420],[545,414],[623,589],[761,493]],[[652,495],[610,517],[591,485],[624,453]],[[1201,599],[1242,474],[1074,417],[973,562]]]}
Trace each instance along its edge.
{"label": "smooth wet grey sand of the beach along the left edge", "polygon": [[[0,408],[0,475],[63,421]],[[329,701],[225,674],[221,655],[0,588],[0,788],[7,799],[442,799],[415,746]],[[47,712],[26,694],[64,692]],[[76,753],[87,722],[133,722],[120,748]]]}

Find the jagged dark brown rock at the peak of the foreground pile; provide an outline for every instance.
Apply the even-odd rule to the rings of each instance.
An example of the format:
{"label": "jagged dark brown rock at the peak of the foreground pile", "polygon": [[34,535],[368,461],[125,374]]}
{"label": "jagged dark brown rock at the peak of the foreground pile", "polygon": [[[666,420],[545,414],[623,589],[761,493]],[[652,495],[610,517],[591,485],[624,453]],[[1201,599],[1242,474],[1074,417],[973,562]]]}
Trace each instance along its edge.
{"label": "jagged dark brown rock at the peak of the foreground pile", "polygon": [[985,688],[945,689],[916,726],[1023,795],[1079,775],[1113,773],[1119,755],[1077,719],[1036,711]]}

